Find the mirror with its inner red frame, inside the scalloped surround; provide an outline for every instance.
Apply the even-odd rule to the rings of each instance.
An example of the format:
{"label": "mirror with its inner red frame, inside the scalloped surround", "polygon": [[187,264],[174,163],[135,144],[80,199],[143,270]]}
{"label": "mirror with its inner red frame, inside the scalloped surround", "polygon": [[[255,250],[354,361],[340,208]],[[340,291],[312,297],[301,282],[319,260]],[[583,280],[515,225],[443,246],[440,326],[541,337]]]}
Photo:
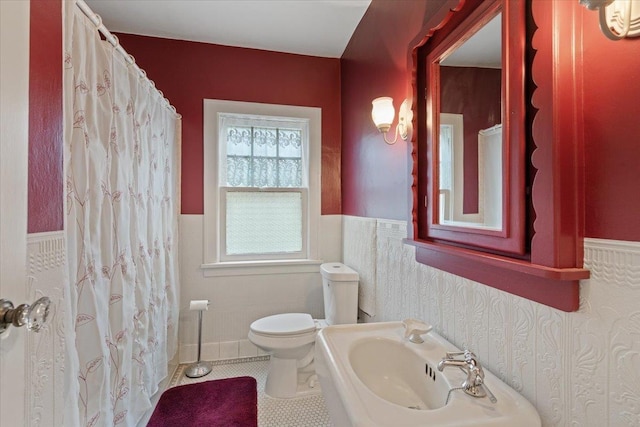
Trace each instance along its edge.
{"label": "mirror with its inner red frame, inside the scalloped surround", "polygon": [[420,240],[526,256],[524,4],[465,3],[418,48]]}

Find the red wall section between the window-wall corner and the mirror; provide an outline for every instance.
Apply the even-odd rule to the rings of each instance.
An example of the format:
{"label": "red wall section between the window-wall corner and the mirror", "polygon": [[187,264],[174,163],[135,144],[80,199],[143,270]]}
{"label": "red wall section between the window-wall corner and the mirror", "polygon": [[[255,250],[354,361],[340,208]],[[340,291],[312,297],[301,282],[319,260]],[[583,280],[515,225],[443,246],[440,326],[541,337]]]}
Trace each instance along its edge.
{"label": "red wall section between the window-wall corner and the mirror", "polygon": [[346,215],[410,217],[411,144],[402,140],[385,144],[371,121],[371,101],[391,96],[397,111],[412,93],[407,46],[419,41],[414,38],[425,20],[443,2],[373,0],[342,55],[342,211]]}

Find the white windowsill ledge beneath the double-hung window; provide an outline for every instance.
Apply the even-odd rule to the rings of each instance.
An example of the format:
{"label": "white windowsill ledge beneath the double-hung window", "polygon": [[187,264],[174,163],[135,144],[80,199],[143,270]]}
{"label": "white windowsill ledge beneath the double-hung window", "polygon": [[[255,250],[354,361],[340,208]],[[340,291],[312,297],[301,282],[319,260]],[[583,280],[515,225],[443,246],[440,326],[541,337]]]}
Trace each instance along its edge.
{"label": "white windowsill ledge beneath the double-hung window", "polygon": [[269,261],[234,261],[202,264],[204,277],[253,276],[258,274],[317,273],[322,260],[287,259]]}

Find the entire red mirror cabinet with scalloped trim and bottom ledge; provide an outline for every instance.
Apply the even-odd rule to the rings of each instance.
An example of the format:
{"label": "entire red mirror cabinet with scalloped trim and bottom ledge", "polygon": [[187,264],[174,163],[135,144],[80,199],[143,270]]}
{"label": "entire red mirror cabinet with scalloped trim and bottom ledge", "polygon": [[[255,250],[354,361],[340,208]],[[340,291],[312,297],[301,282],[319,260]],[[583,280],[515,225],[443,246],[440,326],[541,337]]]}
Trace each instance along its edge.
{"label": "entire red mirror cabinet with scalloped trim and bottom ledge", "polygon": [[[415,246],[419,263],[575,311],[579,281],[589,277],[589,271],[581,268],[582,139],[576,129],[581,126],[582,98],[579,85],[564,84],[580,75],[577,9],[564,1],[445,3],[442,13],[426,23],[422,38],[416,37],[419,44],[412,52],[413,227],[406,242]],[[456,133],[465,133],[460,116],[467,113],[446,110],[443,98],[448,90],[441,70],[498,15],[502,20],[502,162],[480,170],[501,169],[495,176],[501,175],[502,180],[483,183],[482,172],[477,173],[478,201],[486,200],[485,218],[481,218],[480,203],[477,212],[464,210],[470,203],[464,200],[469,189],[464,173],[469,165],[464,164],[464,151],[458,163],[455,143],[464,139]],[[484,158],[480,151],[478,156]],[[456,179],[465,183],[461,196],[457,196]],[[495,196],[502,202],[501,219],[486,219],[487,186],[500,189]],[[455,217],[456,209],[467,217]],[[480,223],[501,223],[501,227]]]}

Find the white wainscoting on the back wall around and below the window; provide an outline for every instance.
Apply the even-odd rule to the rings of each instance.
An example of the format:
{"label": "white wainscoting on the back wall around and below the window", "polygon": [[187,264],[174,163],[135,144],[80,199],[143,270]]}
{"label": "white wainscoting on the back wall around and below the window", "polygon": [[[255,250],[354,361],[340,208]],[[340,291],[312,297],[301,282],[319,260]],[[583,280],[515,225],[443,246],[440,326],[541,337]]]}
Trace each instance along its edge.
{"label": "white wainscoting on the back wall around and below the window", "polygon": [[[189,301],[208,299],[202,316],[202,360],[235,359],[262,355],[247,340],[249,325],[276,314],[303,312],[324,316],[319,266],[313,273],[271,271],[268,274],[208,276],[204,259],[204,216],[180,216],[180,363],[197,355],[197,313]],[[319,254],[324,262],[342,259],[342,217],[320,217]]]}

